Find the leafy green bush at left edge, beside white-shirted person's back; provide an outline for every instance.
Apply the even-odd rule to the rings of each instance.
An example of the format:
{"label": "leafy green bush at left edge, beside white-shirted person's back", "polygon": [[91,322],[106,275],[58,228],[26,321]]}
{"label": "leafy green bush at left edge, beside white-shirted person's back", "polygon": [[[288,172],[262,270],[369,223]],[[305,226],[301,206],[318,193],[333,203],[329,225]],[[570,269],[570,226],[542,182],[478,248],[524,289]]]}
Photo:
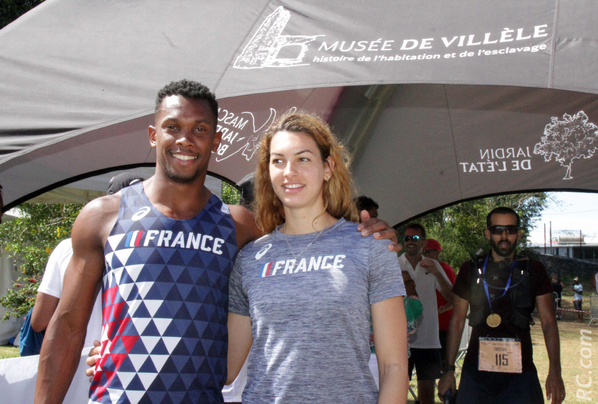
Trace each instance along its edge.
{"label": "leafy green bush at left edge, beside white-shirted person's back", "polygon": [[3,320],[22,317],[33,307],[48,257],[60,241],[71,236],[82,207],[23,203],[16,208],[20,217],[2,221],[0,250],[13,257],[20,272],[17,283],[0,298],[0,304],[7,308]]}

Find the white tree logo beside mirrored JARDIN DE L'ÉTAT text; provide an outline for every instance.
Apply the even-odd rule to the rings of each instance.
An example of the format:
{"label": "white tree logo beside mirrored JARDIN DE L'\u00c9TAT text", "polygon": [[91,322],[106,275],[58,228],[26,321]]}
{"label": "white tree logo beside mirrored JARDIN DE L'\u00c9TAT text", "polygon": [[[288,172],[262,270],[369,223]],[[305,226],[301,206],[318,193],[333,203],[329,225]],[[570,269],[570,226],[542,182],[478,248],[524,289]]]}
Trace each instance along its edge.
{"label": "white tree logo beside mirrored JARDIN DE L'\u00c9TAT text", "polygon": [[544,155],[544,161],[549,162],[554,154],[554,160],[567,168],[563,180],[571,180],[571,165],[573,160],[589,159],[598,150],[598,126],[588,122],[584,111],[579,111],[573,116],[563,115],[552,117],[552,123],[544,128],[544,136],[536,143],[534,154]]}

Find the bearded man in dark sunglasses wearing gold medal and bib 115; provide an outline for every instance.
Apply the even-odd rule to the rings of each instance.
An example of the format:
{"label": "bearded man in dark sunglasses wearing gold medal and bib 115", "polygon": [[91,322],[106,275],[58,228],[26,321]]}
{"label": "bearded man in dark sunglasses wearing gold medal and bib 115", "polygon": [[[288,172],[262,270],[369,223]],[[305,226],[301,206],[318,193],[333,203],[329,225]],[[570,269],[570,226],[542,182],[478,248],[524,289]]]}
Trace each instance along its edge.
{"label": "bearded man in dark sunglasses wearing gold medal and bib 115", "polygon": [[519,215],[496,208],[486,217],[484,235],[492,250],[463,263],[453,287],[456,295],[447,340],[447,363],[438,395],[456,391],[454,361],[469,312],[472,327],[459,384],[457,403],[542,404],[542,388],[532,360],[531,314],[542,323],[550,366],[546,396],[552,404],[565,399],[561,376],[559,330],[553,289],[544,265],[515,254],[521,238]]}

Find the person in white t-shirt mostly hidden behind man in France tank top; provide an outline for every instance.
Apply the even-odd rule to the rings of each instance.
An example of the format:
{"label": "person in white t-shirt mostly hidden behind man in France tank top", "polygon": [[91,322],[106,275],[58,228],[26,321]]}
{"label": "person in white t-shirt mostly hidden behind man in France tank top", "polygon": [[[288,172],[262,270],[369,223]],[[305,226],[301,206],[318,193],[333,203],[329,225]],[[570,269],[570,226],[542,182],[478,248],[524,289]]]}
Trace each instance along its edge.
{"label": "person in white t-shirt mostly hidden behind man in France tank top", "polygon": [[[112,177],[108,183],[108,195],[117,193],[124,187],[145,181],[143,177],[131,172],[123,172]],[[72,242],[68,238],[63,240],[54,248],[45,266],[44,278],[38,287],[35,297],[35,305],[31,312],[31,327],[35,332],[42,332],[48,327],[50,319],[56,310],[56,306],[62,296],[62,286],[65,280],[65,272],[73,254]],[[84,347],[93,347],[93,341],[102,337],[102,299],[98,293],[91,317],[87,324],[87,334]],[[39,347],[41,348],[41,347]],[[39,351],[37,352],[39,353]]]}

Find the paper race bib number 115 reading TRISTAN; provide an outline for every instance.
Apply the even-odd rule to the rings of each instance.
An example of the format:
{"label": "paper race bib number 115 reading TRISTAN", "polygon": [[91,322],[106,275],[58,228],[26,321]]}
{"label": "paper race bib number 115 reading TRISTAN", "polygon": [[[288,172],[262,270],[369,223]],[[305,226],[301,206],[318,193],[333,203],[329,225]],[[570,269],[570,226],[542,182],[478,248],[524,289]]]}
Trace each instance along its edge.
{"label": "paper race bib number 115 reading TRISTAN", "polygon": [[521,341],[515,338],[480,337],[478,370],[521,373]]}

